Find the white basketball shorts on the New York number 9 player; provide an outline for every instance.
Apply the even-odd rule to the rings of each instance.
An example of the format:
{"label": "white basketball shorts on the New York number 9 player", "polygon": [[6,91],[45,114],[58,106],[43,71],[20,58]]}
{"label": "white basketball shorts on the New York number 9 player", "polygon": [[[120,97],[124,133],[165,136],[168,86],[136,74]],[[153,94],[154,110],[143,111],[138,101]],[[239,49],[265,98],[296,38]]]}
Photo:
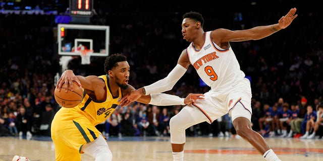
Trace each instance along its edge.
{"label": "white basketball shorts on the New York number 9 player", "polygon": [[232,121],[238,117],[245,117],[251,121],[251,88],[247,78],[221,91],[210,90],[204,94],[204,100],[184,107],[194,118],[196,123],[214,120],[229,113]]}

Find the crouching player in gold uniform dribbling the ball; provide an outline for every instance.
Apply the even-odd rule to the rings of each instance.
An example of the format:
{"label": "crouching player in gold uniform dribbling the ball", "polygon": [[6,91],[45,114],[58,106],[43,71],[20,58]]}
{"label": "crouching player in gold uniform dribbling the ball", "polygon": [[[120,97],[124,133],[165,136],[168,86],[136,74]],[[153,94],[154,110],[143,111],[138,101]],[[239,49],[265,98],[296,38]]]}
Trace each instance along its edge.
{"label": "crouching player in gold uniform dribbling the ball", "polygon": [[[135,90],[128,85],[130,66],[126,56],[113,54],[105,59],[106,75],[80,76],[72,70],[63,72],[57,88],[76,81],[84,89],[82,102],[74,108],[62,107],[51,123],[51,138],[56,160],[81,160],[85,152],[98,160],[112,160],[112,152],[95,125],[105,121],[118,107],[123,96]],[[73,87],[73,86],[71,86]],[[153,105],[186,105],[203,99],[202,94],[189,94],[185,99],[167,94],[140,97],[137,101]]]}

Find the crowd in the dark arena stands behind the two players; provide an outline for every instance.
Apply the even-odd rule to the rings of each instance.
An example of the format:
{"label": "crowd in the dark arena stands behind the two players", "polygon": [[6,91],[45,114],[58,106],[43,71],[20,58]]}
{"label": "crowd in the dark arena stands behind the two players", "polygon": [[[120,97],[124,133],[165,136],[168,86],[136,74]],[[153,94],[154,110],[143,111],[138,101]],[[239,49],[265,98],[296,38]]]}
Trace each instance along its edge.
{"label": "crowd in the dark arena stands behind the two players", "polygon": [[[106,5],[102,2],[101,5]],[[116,2],[106,10],[97,9],[92,25],[108,25],[110,53],[121,52],[131,65],[129,84],[135,88],[165,77],[176,65],[177,57],[188,43],[182,39],[180,4],[172,8],[132,8]],[[278,2],[277,2],[278,3]],[[282,3],[282,2],[281,2]],[[241,5],[241,4],[240,4]],[[261,13],[233,6],[227,15],[202,10],[210,29],[239,30],[271,24],[277,15],[291,7]],[[294,6],[292,6],[294,7]],[[161,8],[166,9],[165,11]],[[286,30],[259,41],[231,43],[252,87],[253,129],[265,137],[320,138],[323,135],[323,65],[321,14],[313,7],[296,6],[297,20]],[[177,12],[174,12],[174,11]],[[196,11],[201,11],[195,9]],[[118,12],[125,11],[125,12]],[[145,11],[145,12],[143,12]],[[254,13],[261,13],[254,15]],[[61,72],[57,49],[55,15],[0,14],[0,136],[50,135],[50,122],[61,108],[53,98],[54,76]],[[5,24],[5,25],[4,25]],[[91,64],[81,65],[80,58],[69,68],[80,75],[102,75],[104,57],[91,57]],[[205,93],[193,68],[169,94],[186,97]],[[169,135],[169,120],[183,106],[152,106],[134,102],[116,110],[97,128],[106,136]],[[234,136],[228,115],[187,129],[189,136]]]}

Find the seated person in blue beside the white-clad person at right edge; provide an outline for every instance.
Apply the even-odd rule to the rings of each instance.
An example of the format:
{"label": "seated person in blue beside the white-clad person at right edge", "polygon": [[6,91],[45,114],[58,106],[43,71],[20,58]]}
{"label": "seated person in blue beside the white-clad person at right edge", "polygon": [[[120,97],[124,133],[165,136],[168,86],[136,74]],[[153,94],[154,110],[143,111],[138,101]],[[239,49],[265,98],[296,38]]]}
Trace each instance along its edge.
{"label": "seated person in blue beside the white-clad person at right edge", "polygon": [[[316,112],[313,111],[313,107],[311,105],[307,106],[307,113],[305,114],[304,121],[302,122],[302,127],[305,125],[305,134],[300,139],[305,139],[309,136],[311,128],[314,127],[314,124],[316,122]],[[304,131],[302,129],[302,131]],[[303,132],[304,133],[304,132]]]}

